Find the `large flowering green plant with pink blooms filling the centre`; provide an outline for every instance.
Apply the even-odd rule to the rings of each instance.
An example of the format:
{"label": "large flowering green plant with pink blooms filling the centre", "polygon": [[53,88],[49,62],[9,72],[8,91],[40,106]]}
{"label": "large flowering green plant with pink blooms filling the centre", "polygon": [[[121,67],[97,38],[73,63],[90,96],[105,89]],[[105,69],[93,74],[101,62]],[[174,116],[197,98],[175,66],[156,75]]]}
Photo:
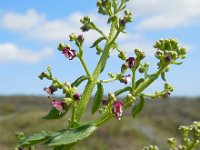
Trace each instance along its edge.
{"label": "large flowering green plant with pink blooms filling the centre", "polygon": [[[79,141],[85,139],[92,134],[100,125],[111,118],[118,120],[123,119],[123,111],[127,108],[132,108],[132,116],[135,117],[141,112],[145,98],[160,98],[167,97],[173,91],[173,87],[166,82],[165,74],[169,71],[169,66],[180,65],[178,59],[186,57],[186,49],[180,48],[177,40],[175,39],[161,39],[155,42],[154,48],[156,49],[155,57],[158,60],[157,70],[154,73],[149,73],[149,63],[144,62],[145,54],[140,49],[135,49],[134,54],[127,56],[127,54],[120,49],[116,43],[119,34],[124,34],[128,23],[132,22],[132,13],[126,10],[126,4],[129,0],[98,0],[97,8],[98,13],[108,18],[107,24],[110,27],[110,32],[106,35],[99,27],[95,25],[92,20],[86,16],[80,22],[82,32],[89,32],[94,30],[99,33],[99,38],[96,39],[90,48],[96,49],[97,54],[100,56],[96,64],[96,68],[91,72],[88,69],[87,63],[84,59],[84,38],[82,34],[75,35],[72,33],[69,40],[74,42],[76,47],[70,47],[68,44],[60,43],[58,50],[66,57],[67,61],[79,59],[84,68],[82,76],[75,79],[74,82],[60,82],[57,80],[51,68],[47,67],[46,72],[39,75],[40,79],[47,79],[52,81],[49,87],[44,88],[44,91],[49,94],[52,103],[52,109],[44,116],[44,119],[53,120],[60,119],[64,116],[68,118],[68,125],[65,129],[56,132],[41,132],[33,134],[32,136],[25,137],[23,133],[18,133],[18,145],[16,149],[33,148],[35,144],[44,143],[55,150],[67,150],[77,144]],[[119,16],[121,11],[124,11],[122,16]],[[104,41],[103,44],[102,41]],[[104,45],[104,46],[102,46]],[[76,49],[76,50],[74,50]],[[99,75],[104,72],[108,56],[113,52],[118,52],[118,57],[122,63],[119,73],[108,73],[109,79],[100,80]],[[131,74],[127,74],[127,70]],[[143,75],[142,78],[136,76],[137,73]],[[144,93],[144,90],[149,87],[156,79],[161,78],[164,80],[164,89],[160,92],[152,94]],[[83,82],[87,81],[83,93],[78,93],[78,87]],[[103,97],[104,84],[110,82],[122,82],[125,87]],[[94,100],[91,101],[91,113],[98,114],[94,120],[83,120],[82,117],[85,113],[86,107],[91,98],[94,88],[97,87]],[[64,98],[53,98],[53,94],[57,90],[62,90]],[[122,100],[118,97],[121,94],[127,94]],[[67,115],[71,111],[70,115]]]}

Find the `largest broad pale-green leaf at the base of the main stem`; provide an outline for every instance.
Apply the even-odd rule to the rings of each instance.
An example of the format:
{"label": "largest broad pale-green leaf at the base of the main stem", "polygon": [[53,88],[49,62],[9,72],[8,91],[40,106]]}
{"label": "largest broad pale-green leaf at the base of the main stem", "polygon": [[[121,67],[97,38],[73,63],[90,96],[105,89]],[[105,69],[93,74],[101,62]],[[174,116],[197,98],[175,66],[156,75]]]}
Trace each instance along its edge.
{"label": "largest broad pale-green leaf at the base of the main stem", "polygon": [[56,147],[61,145],[71,146],[72,144],[75,144],[78,141],[88,137],[96,129],[97,127],[93,124],[82,125],[79,126],[78,128],[69,129],[66,130],[65,132],[60,133],[59,135],[47,141],[46,144],[50,147]]}

